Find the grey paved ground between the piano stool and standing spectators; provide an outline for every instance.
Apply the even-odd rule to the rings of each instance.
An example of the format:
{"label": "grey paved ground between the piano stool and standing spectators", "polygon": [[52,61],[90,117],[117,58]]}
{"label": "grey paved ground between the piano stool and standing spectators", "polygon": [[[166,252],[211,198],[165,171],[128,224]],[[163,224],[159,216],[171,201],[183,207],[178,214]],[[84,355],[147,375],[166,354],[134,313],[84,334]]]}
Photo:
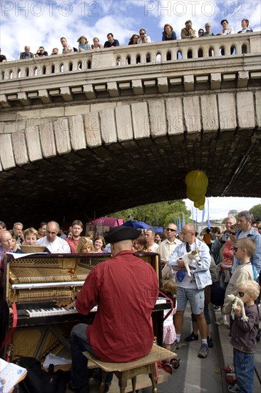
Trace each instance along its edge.
{"label": "grey paved ground between the piano stool and standing spectators", "polygon": [[[232,364],[232,347],[230,345],[229,329],[225,325],[218,326],[215,320],[222,317],[220,312],[213,312],[213,341],[207,359],[198,358],[198,342],[184,342],[183,339],[191,332],[190,308],[185,311],[183,324],[183,347],[176,352],[180,359],[180,367],[173,371],[168,382],[158,384],[158,393],[225,393],[227,382],[222,366]],[[261,391],[261,342],[257,343],[255,354],[255,387],[253,393]],[[232,374],[235,376],[235,374]],[[66,390],[71,392],[70,390]],[[110,392],[110,391],[109,391]],[[139,393],[151,393],[151,387],[140,389]],[[90,393],[98,393],[98,384],[92,384]],[[126,392],[128,393],[128,392]]]}

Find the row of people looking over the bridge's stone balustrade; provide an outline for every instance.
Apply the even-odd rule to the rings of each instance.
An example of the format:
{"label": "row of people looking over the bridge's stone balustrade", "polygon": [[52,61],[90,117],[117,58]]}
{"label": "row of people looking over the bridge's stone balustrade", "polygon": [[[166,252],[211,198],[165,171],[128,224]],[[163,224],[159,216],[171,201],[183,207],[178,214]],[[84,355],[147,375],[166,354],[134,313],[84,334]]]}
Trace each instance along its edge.
{"label": "row of people looking over the bridge's stone balustrade", "polygon": [[[227,34],[235,34],[235,30],[232,26],[229,26],[229,22],[227,19],[222,19],[220,21],[220,24],[222,26],[222,29],[216,32],[215,34],[213,31],[211,31],[211,24],[209,22],[205,23],[205,30],[203,28],[200,28],[198,30],[198,35],[196,31],[193,29],[193,22],[191,20],[185,21],[185,27],[180,31],[180,39],[195,39],[195,38],[204,38],[204,37],[210,37],[210,36],[224,36]],[[242,19],[241,21],[241,29],[237,31],[237,34],[241,33],[250,33],[253,30],[249,28],[249,20],[248,19]],[[177,39],[177,34],[173,30],[173,26],[170,24],[165,24],[164,29],[163,29],[163,34],[162,34],[162,41],[174,41]],[[61,53],[62,54],[69,54],[73,52],[84,52],[84,51],[96,51],[99,49],[103,48],[111,48],[114,46],[120,46],[120,43],[118,39],[115,39],[113,36],[113,33],[108,33],[107,34],[107,41],[104,42],[104,44],[101,44],[100,40],[98,37],[93,38],[93,44],[89,44],[88,39],[86,36],[80,36],[77,39],[78,47],[73,46],[72,44],[68,43],[67,39],[65,37],[61,37]],[[138,34],[133,34],[130,37],[130,41],[128,42],[128,45],[135,45],[135,44],[150,44],[151,39],[150,36],[147,34],[145,29],[140,29]],[[55,47],[51,51],[51,55],[56,55],[59,54],[59,49],[58,47]],[[221,51],[221,54],[224,54],[224,52]],[[48,52],[44,49],[44,46],[39,46],[39,49],[36,51],[36,53],[31,52],[31,48],[29,45],[24,46],[24,51],[21,52],[20,54],[20,59],[32,59],[34,57],[36,58],[41,58],[43,56],[48,56]],[[188,56],[190,58],[190,56]],[[1,49],[0,49],[0,62],[6,61],[6,56],[1,54]]]}

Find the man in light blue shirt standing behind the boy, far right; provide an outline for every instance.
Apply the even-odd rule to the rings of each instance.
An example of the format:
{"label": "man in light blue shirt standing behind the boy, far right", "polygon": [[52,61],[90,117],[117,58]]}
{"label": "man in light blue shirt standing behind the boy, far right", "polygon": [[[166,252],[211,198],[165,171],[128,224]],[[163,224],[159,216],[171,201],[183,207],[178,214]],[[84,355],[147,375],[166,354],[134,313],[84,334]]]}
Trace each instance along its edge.
{"label": "man in light blue shirt standing behind the boy, far right", "polygon": [[[244,237],[248,237],[255,242],[255,252],[250,257],[250,262],[257,269],[257,274],[260,274],[261,270],[261,235],[252,228],[252,222],[254,221],[254,217],[252,213],[247,210],[240,212],[237,217],[237,224],[239,231],[237,232],[236,238],[237,240],[243,239]],[[240,260],[237,256],[233,259],[233,265],[231,272],[235,272],[235,268],[240,264]]]}

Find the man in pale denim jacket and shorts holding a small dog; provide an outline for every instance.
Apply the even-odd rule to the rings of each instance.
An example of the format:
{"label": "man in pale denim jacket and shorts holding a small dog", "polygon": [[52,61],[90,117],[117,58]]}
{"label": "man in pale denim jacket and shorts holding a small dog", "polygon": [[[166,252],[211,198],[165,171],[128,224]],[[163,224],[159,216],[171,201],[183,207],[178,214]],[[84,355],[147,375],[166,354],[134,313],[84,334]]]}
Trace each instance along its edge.
{"label": "man in pale denim jacket and shorts holding a small dog", "polygon": [[[210,276],[210,250],[207,244],[201,242],[195,237],[195,226],[186,224],[182,229],[183,243],[175,248],[174,252],[168,259],[168,267],[172,269],[176,277],[178,287],[177,303],[178,308],[175,314],[175,330],[177,334],[177,343],[180,342],[181,329],[183,327],[183,315],[187,302],[190,302],[191,312],[195,314],[200,330],[201,346],[198,357],[208,357],[208,331],[207,323],[204,317],[204,288],[212,284]],[[198,250],[200,252],[201,264],[190,264],[191,277],[185,269],[183,256],[186,252]],[[178,345],[176,345],[178,348]]]}

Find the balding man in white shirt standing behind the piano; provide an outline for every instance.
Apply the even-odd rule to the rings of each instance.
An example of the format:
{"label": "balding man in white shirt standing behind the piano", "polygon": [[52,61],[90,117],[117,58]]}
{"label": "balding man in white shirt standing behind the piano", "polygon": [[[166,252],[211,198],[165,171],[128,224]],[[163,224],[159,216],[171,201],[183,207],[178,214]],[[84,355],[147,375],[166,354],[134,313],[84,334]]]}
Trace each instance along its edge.
{"label": "balding man in white shirt standing behind the piano", "polygon": [[66,240],[58,237],[59,224],[55,221],[48,222],[46,236],[36,241],[36,246],[45,246],[51,254],[71,254],[71,249]]}

